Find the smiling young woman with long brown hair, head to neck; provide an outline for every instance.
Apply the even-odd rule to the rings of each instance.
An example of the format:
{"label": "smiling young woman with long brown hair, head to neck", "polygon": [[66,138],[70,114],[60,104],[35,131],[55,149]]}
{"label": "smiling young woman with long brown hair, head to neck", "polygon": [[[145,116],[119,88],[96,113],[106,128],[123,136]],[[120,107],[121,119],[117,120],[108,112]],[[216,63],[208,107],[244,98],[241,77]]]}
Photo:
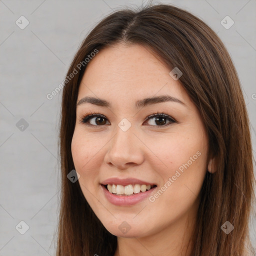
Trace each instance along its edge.
{"label": "smiling young woman with long brown hair, head to neck", "polygon": [[255,255],[241,87],[191,13],[158,4],[94,27],[66,75],[60,155],[57,255]]}

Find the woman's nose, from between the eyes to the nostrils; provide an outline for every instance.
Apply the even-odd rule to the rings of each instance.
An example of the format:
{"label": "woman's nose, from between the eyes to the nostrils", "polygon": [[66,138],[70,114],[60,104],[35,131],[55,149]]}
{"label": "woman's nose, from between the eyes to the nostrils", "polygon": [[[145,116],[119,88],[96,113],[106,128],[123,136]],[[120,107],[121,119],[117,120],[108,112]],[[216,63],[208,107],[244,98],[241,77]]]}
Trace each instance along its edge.
{"label": "woman's nose, from between the eyes to the nostrils", "polygon": [[107,143],[108,150],[104,157],[106,164],[126,169],[143,162],[143,143],[133,132],[132,126],[126,131],[116,127],[115,135]]}

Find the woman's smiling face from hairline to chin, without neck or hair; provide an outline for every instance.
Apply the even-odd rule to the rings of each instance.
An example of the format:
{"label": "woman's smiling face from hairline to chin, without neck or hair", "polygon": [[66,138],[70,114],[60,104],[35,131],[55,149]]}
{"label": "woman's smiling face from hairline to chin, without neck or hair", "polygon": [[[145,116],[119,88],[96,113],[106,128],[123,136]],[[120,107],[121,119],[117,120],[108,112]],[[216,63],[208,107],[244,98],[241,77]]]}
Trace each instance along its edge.
{"label": "woman's smiling face from hairline to chin, without neck or hair", "polygon": [[146,48],[116,44],[90,60],[79,85],[72,158],[84,197],[116,236],[178,232],[197,212],[208,139],[170,71]]}

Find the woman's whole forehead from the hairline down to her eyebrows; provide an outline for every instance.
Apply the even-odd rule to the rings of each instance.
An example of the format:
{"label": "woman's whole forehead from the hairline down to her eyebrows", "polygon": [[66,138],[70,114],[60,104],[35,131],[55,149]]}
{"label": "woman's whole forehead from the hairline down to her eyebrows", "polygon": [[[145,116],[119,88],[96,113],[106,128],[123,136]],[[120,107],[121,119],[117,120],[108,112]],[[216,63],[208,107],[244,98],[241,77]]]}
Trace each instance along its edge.
{"label": "woman's whole forehead from the hairline down to her eyebrows", "polygon": [[86,95],[112,101],[169,94],[189,101],[183,87],[169,72],[147,48],[119,43],[100,50],[87,64],[78,100]]}

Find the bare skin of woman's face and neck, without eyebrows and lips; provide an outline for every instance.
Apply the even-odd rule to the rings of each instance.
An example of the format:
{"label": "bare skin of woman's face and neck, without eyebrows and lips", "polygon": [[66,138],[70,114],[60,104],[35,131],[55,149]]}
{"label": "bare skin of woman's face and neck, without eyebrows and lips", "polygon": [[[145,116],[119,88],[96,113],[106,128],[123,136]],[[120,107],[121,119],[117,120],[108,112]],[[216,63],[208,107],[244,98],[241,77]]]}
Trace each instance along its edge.
{"label": "bare skin of woman's face and neck, without eyebrows and lips", "polygon": [[[191,251],[188,241],[195,226],[199,192],[207,169],[213,172],[213,161],[207,161],[208,138],[199,112],[169,72],[147,48],[118,43],[90,60],[79,85],[77,102],[93,96],[111,103],[109,108],[77,105],[71,150],[84,197],[105,228],[117,236],[114,256],[180,256]],[[167,101],[134,107],[136,100],[164,94],[184,104]],[[95,122],[92,117],[88,121],[91,126],[80,123],[90,111],[105,119]],[[156,117],[146,120],[157,111],[176,122],[165,118],[160,125]],[[123,118],[131,123],[125,132],[118,126]],[[179,171],[154,202],[146,198],[134,205],[117,206],[101,191],[100,182],[109,177],[135,177],[155,183],[159,189],[198,151],[200,156]],[[125,234],[118,228],[123,221],[130,226]]]}

